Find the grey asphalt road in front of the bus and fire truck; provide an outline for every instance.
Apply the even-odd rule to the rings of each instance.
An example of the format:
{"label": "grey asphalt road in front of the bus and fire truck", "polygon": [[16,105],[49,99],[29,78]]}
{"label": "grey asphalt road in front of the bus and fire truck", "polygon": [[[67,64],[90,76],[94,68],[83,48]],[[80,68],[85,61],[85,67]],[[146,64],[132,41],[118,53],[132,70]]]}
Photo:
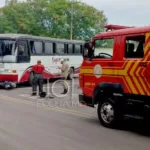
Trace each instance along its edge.
{"label": "grey asphalt road in front of the bus and fire truck", "polygon": [[[59,89],[57,88],[59,91]],[[65,97],[32,97],[31,87],[0,90],[1,150],[149,150],[140,126],[99,124],[96,109],[79,105],[78,81]],[[131,125],[131,127],[129,127]],[[135,130],[135,128],[137,130]]]}

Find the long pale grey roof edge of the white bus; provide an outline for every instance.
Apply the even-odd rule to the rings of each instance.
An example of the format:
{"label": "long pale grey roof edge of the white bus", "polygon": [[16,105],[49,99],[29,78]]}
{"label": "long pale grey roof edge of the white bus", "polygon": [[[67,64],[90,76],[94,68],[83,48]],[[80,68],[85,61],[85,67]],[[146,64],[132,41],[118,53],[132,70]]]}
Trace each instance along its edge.
{"label": "long pale grey roof edge of the white bus", "polygon": [[57,41],[57,42],[70,42],[70,43],[84,43],[81,40],[68,40],[68,39],[59,39],[59,38],[49,38],[49,37],[41,37],[41,36],[34,36],[28,34],[0,34],[0,38],[9,38],[9,39],[35,39],[35,40],[49,40],[49,41]]}

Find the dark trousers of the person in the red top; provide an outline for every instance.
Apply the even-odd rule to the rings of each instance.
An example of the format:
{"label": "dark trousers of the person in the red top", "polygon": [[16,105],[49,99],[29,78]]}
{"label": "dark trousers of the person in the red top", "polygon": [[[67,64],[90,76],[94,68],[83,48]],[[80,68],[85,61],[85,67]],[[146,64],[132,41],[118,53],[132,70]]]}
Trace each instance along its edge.
{"label": "dark trousers of the person in the red top", "polygon": [[32,81],[32,92],[37,92],[37,87],[39,87],[39,93],[43,92],[43,75],[42,74],[34,74],[34,78]]}

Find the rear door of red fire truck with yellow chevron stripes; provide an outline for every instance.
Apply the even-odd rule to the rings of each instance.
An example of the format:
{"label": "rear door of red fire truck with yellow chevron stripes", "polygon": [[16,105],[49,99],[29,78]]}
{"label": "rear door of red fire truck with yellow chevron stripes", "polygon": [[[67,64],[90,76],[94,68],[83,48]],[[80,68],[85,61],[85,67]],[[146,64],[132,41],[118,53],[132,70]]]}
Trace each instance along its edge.
{"label": "rear door of red fire truck with yellow chevron stripes", "polygon": [[128,94],[149,95],[149,36],[129,35],[125,37],[124,60],[126,62],[125,81]]}

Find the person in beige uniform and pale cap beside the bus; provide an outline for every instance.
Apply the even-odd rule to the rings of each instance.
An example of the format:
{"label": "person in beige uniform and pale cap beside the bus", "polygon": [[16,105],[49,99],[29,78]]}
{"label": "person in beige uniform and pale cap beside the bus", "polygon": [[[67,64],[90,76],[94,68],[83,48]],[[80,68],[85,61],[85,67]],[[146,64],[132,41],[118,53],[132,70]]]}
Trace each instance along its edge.
{"label": "person in beige uniform and pale cap beside the bus", "polygon": [[61,70],[61,74],[62,74],[62,77],[63,77],[63,86],[64,86],[64,92],[62,94],[66,94],[67,91],[68,91],[68,86],[67,86],[67,77],[68,77],[68,74],[69,74],[69,65],[64,61],[64,59],[61,59],[61,64],[62,66],[61,67],[58,67],[60,70]]}

